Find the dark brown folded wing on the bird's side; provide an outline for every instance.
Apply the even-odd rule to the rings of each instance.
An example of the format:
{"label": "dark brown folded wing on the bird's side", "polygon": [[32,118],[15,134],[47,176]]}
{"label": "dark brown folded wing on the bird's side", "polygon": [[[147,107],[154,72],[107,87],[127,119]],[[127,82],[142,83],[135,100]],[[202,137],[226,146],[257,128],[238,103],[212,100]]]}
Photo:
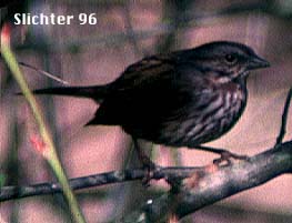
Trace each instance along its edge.
{"label": "dark brown folded wing on the bird's side", "polygon": [[[203,91],[203,75],[174,57],[151,57],[129,67],[112,83],[110,93],[89,124],[117,124],[129,129],[159,128],[185,116]],[[138,131],[138,130],[134,130]]]}

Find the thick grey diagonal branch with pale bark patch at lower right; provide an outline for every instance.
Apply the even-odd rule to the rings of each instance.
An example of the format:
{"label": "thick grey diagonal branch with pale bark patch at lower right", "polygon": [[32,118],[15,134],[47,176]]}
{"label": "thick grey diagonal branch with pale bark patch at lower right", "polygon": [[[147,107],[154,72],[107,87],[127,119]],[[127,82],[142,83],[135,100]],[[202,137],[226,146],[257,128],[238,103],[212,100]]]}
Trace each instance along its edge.
{"label": "thick grey diagonal branch with pale bark patch at lower right", "polygon": [[203,206],[291,172],[292,141],[246,161],[221,166],[202,176],[193,174],[183,180],[177,193],[170,191],[153,201],[148,201],[122,222],[167,222],[171,214],[181,219]]}

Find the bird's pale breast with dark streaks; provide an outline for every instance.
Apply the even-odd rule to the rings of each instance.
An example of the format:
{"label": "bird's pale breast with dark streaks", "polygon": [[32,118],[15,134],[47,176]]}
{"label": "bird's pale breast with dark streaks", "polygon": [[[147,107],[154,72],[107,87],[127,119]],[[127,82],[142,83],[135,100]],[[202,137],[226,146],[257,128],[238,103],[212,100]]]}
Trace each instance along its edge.
{"label": "bird's pale breast with dark streaks", "polygon": [[[192,120],[192,128],[187,132],[185,144],[190,148],[215,140],[228,132],[236,123],[245,108],[246,90],[244,85],[224,83],[213,91],[214,100]],[[185,121],[190,122],[190,120]]]}

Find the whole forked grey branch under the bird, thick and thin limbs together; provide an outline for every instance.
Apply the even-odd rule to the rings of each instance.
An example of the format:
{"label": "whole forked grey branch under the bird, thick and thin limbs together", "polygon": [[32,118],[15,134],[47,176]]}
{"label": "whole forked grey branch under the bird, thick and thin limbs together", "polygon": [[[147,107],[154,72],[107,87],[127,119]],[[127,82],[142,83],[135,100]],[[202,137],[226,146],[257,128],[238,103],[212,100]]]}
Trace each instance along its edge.
{"label": "whole forked grey branch under the bird, thick and thin limbs together", "polygon": [[[282,143],[248,160],[234,161],[231,165],[212,171],[203,168],[160,168],[151,179],[165,179],[178,183],[168,193],[141,205],[122,222],[167,222],[168,213],[179,219],[213,204],[241,191],[261,185],[278,175],[292,172],[292,141]],[[141,180],[148,173],[143,170],[113,171],[70,180],[73,190],[110,183]],[[174,184],[173,184],[174,185]],[[58,183],[31,186],[3,186],[0,201],[32,195],[60,193]]]}

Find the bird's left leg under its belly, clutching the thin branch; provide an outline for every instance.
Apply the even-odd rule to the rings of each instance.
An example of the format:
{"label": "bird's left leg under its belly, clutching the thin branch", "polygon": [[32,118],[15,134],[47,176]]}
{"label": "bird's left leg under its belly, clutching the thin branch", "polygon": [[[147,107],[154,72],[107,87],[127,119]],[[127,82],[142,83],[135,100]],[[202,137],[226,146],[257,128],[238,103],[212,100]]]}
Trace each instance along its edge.
{"label": "bird's left leg under its belly, clutching the thin branch", "polygon": [[134,149],[137,151],[138,158],[142,163],[142,168],[147,171],[147,176],[142,179],[142,184],[149,185],[149,182],[153,175],[153,172],[158,169],[155,163],[153,163],[150,158],[144,153],[138,143],[138,140],[133,138]]}

